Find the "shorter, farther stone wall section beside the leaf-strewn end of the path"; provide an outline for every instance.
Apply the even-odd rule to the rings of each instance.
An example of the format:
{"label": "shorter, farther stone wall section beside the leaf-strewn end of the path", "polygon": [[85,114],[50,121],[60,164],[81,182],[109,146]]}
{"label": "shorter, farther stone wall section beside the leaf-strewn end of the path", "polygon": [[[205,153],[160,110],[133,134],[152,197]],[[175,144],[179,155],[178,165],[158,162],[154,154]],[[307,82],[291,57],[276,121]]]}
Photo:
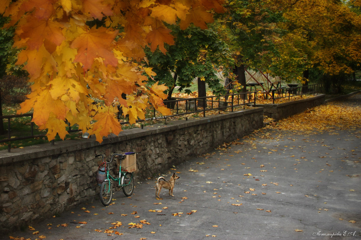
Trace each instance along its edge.
{"label": "shorter, farther stone wall section beside the leaf-strewn end of the path", "polygon": [[264,107],[264,114],[275,120],[304,112],[309,108],[319,106],[325,102],[325,94],[318,94],[312,98],[305,98],[280,104],[262,104],[257,107]]}

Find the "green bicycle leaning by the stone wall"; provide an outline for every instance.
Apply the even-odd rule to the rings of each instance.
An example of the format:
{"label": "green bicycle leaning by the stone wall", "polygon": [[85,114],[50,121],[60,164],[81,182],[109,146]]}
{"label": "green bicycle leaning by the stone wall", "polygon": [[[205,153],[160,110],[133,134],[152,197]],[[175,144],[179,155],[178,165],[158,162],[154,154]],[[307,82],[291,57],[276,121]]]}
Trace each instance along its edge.
{"label": "green bicycle leaning by the stone wall", "polygon": [[113,177],[109,173],[109,168],[107,167],[107,165],[112,163],[114,158],[117,158],[121,161],[121,160],[125,159],[125,157],[129,154],[134,154],[134,153],[126,152],[123,154],[112,154],[112,157],[110,158],[109,162],[104,161],[103,154],[95,156],[95,157],[100,157],[100,156],[102,157],[103,164],[101,164],[99,166],[99,169],[100,169],[100,167],[104,166],[103,169],[105,170],[105,174],[104,174],[105,179],[103,180],[103,182],[101,182],[100,192],[99,192],[100,201],[104,206],[108,206],[110,204],[110,201],[112,201],[113,181],[115,181],[117,183],[117,186],[115,188],[121,187],[123,189],[125,196],[129,197],[133,194],[133,191],[134,191],[133,172],[130,173],[130,172],[127,172],[125,169],[122,169],[122,166],[119,163],[119,175],[118,175],[118,177]]}

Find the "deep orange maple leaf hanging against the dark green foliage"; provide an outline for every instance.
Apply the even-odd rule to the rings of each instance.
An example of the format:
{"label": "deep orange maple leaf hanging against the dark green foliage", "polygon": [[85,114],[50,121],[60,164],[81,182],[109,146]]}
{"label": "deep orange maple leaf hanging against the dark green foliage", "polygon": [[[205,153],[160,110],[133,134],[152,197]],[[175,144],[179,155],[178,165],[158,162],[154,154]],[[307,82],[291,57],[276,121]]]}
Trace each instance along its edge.
{"label": "deep orange maple leaf hanging against the dark green foliage", "polygon": [[158,27],[153,29],[147,35],[148,43],[151,43],[151,51],[154,52],[159,46],[159,50],[162,53],[166,53],[166,49],[164,48],[164,43],[168,43],[169,45],[174,44],[174,37],[170,34],[171,30],[165,27]]}

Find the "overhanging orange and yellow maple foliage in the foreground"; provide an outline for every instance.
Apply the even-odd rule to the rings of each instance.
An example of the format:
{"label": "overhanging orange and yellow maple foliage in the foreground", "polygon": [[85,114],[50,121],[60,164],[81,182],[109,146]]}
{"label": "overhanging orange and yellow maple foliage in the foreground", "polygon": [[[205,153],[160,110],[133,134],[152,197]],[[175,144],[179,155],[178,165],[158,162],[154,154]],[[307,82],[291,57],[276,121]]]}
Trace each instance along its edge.
{"label": "overhanging orange and yellow maple foliage in the foreground", "polygon": [[65,138],[65,121],[95,134],[99,142],[109,133],[118,134],[116,105],[130,123],[144,119],[149,104],[169,114],[162,101],[166,86],[148,84],[145,75],[154,72],[142,63],[143,48],[165,53],[164,43],[172,45],[174,40],[164,23],[179,23],[183,30],[193,23],[205,29],[213,21],[208,11],[223,10],[221,0],[3,3],[0,14],[11,17],[6,26],[17,26],[14,46],[22,49],[17,65],[25,64],[32,83],[32,93],[18,113],[33,110],[32,121],[48,129],[49,141],[56,134]]}

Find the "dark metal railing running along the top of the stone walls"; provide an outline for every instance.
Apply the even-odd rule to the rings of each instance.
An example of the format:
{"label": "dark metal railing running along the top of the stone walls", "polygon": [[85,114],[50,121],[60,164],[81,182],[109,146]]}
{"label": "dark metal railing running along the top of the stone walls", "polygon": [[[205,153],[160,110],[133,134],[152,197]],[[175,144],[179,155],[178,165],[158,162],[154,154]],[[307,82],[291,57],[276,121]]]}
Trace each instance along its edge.
{"label": "dark metal railing running along the top of the stone walls", "polygon": [[[315,94],[317,92],[321,92],[322,90],[322,84],[312,84],[308,85],[307,89],[305,90],[304,86],[300,87],[283,87],[283,88],[276,88],[271,90],[271,96],[273,98],[273,103],[275,102],[275,99],[280,98],[288,98],[290,99],[293,96],[297,95],[305,95],[305,94]],[[258,99],[258,96],[260,94],[264,94],[265,98],[268,94],[266,94],[264,91],[255,90],[252,92],[247,93],[234,93],[234,94],[227,94],[224,96],[206,96],[206,97],[195,97],[195,98],[175,98],[172,100],[166,100],[164,101],[165,105],[172,110],[172,114],[168,116],[162,116],[159,112],[153,108],[152,110],[152,116],[147,117],[144,120],[136,120],[137,123],[144,122],[144,121],[151,121],[151,120],[158,120],[158,119],[164,119],[165,124],[167,123],[168,118],[172,117],[181,117],[185,115],[193,115],[193,114],[199,114],[201,113],[203,117],[206,116],[206,112],[208,111],[214,111],[218,110],[220,111],[226,111],[227,109],[230,109],[231,112],[234,111],[235,108],[243,107],[243,109],[246,106],[256,106],[256,102]],[[258,100],[259,101],[259,100]],[[218,112],[218,114],[219,114]],[[11,122],[14,118],[19,117],[33,117],[32,113],[29,114],[21,114],[21,115],[7,115],[7,116],[0,116],[0,119],[7,119],[8,120],[8,130],[7,130],[7,138],[0,139],[0,143],[9,142],[8,143],[8,152],[10,152],[11,149],[11,142],[17,141],[17,140],[23,140],[23,139],[31,139],[31,138],[40,138],[45,137],[46,134],[35,134],[34,135],[34,129],[35,124],[30,121],[31,128],[30,128],[30,134],[21,136],[21,137],[11,137]],[[129,124],[129,121],[125,119],[120,122],[121,125]],[[187,120],[187,117],[186,117]],[[78,132],[80,130],[78,129],[71,129],[70,124],[68,132]],[[141,125],[143,128],[143,124]],[[52,144],[54,142],[52,141]]]}

